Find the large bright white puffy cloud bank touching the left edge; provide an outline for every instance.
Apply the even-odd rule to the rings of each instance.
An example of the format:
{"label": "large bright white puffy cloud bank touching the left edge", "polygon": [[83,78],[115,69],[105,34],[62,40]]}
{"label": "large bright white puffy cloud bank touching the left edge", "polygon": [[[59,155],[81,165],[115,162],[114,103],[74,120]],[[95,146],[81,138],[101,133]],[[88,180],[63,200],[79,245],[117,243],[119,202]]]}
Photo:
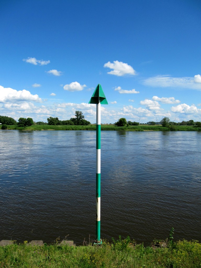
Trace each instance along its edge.
{"label": "large bright white puffy cloud bank touching the left edge", "polygon": [[15,90],[12,88],[4,88],[0,86],[0,102],[5,103],[9,101],[36,101],[41,102],[37,94],[32,95],[28,90]]}

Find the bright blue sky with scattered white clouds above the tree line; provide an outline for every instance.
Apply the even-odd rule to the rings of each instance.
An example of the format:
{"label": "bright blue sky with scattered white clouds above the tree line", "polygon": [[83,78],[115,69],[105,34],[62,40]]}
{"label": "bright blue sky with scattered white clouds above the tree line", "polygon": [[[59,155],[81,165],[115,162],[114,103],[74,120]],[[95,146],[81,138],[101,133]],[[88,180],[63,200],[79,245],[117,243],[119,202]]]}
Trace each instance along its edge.
{"label": "bright blue sky with scattered white clouds above the tree line", "polygon": [[201,3],[0,1],[0,115],[201,121]]}

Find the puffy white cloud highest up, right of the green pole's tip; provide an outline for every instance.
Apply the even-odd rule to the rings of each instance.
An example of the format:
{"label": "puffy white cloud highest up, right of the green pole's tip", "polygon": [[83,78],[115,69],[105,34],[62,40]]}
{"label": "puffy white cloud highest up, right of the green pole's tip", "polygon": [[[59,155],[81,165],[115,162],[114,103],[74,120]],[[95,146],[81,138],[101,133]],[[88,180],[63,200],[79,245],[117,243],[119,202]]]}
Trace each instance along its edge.
{"label": "puffy white cloud highest up, right of the green pole's tip", "polygon": [[136,75],[136,71],[132,66],[122,61],[110,61],[104,64],[104,67],[113,69],[113,71],[107,72],[110,75],[123,76],[123,75]]}

